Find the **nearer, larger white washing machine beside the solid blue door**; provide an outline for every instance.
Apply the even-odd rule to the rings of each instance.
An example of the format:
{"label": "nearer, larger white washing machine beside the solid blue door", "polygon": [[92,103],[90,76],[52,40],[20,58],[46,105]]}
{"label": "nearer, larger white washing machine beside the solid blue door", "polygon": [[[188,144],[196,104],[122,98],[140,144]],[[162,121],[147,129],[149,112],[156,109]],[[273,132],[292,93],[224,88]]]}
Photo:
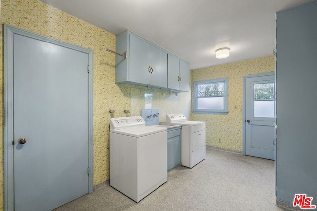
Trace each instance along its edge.
{"label": "nearer, larger white washing machine beside the solid blue door", "polygon": [[110,120],[110,186],[139,202],[167,181],[167,129],[141,116]]}

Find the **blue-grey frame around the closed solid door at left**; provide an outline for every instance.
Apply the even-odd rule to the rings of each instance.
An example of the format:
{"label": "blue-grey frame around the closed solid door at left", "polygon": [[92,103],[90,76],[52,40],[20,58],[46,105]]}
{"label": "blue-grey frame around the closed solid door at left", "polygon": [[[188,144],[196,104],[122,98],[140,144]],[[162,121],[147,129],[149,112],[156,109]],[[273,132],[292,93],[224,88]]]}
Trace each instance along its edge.
{"label": "blue-grey frame around the closed solid door at left", "polygon": [[7,24],[4,29],[4,210],[14,210],[14,34],[50,42],[88,55],[88,192],[93,191],[93,51],[67,42],[23,30]]}

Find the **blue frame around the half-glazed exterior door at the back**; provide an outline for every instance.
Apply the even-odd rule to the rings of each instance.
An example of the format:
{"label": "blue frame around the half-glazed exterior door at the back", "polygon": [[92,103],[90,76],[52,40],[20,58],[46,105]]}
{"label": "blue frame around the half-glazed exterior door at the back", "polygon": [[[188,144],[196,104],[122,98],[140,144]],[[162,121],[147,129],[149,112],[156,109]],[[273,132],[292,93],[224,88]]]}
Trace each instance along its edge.
{"label": "blue frame around the half-glazed exterior door at the back", "polygon": [[[253,74],[253,75],[247,75],[247,76],[243,76],[243,106],[242,106],[242,133],[243,133],[243,137],[242,137],[242,154],[246,155],[246,81],[248,78],[254,78],[254,77],[261,77],[261,76],[271,76],[274,75],[275,78],[275,72],[268,72],[268,73],[260,73],[260,74]],[[276,156],[275,156],[276,158]]]}

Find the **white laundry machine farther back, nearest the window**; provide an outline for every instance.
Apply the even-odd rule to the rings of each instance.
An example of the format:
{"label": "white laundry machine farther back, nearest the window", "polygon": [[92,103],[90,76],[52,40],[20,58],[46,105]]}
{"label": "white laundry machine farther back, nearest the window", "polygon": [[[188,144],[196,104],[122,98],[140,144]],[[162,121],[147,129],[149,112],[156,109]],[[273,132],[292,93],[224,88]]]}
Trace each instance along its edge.
{"label": "white laundry machine farther back, nearest the window", "polygon": [[192,168],[206,157],[206,124],[187,120],[184,114],[167,114],[166,124],[182,125],[182,165]]}

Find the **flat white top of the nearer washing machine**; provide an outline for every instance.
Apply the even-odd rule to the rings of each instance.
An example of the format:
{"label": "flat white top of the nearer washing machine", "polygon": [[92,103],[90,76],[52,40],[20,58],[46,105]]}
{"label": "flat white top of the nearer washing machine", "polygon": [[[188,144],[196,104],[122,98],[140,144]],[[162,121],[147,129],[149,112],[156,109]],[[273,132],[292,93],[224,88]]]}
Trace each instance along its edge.
{"label": "flat white top of the nearer washing machine", "polygon": [[110,129],[110,132],[132,136],[132,137],[142,137],[146,135],[155,134],[158,132],[167,132],[167,128],[164,127],[151,127],[151,126],[139,126],[139,127],[129,127],[124,129],[113,130]]}

